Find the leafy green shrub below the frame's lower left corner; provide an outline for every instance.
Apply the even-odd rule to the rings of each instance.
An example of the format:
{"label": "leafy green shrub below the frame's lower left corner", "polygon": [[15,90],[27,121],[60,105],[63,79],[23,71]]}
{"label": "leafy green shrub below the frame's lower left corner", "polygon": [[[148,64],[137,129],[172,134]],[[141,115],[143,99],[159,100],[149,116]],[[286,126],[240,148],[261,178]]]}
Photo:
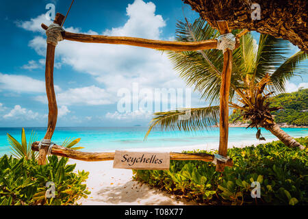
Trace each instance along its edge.
{"label": "leafy green shrub below the frame's lower left corner", "polygon": [[[35,159],[4,155],[0,158],[0,205],[74,205],[90,194],[86,190],[89,172],[74,173],[76,164],[68,158],[48,157],[48,164],[38,165]],[[47,182],[55,185],[55,197],[47,198]]]}

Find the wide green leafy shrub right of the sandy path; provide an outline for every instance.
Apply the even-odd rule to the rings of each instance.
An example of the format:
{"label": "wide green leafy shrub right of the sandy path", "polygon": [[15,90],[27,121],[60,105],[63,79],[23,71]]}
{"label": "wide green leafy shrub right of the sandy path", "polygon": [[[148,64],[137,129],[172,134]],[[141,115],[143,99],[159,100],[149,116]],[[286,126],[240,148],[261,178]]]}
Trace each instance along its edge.
{"label": "wide green leafy shrub right of the sandy path", "polygon": [[[297,141],[308,145],[308,137]],[[290,149],[277,141],[229,149],[228,155],[233,167],[222,173],[209,162],[172,160],[169,170],[133,170],[134,179],[211,205],[308,204],[307,149]],[[251,197],[254,181],[261,185],[261,198]]]}

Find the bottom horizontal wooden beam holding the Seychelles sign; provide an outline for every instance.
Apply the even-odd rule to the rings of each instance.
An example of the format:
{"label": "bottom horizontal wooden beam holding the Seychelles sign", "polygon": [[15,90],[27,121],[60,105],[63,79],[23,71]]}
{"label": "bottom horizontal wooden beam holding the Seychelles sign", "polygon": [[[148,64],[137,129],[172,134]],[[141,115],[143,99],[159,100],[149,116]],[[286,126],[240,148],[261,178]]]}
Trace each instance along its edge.
{"label": "bottom horizontal wooden beam holding the Seychelles sign", "polygon": [[[38,151],[38,143],[34,142],[31,146],[33,151]],[[78,159],[85,162],[101,162],[114,159],[114,152],[101,152],[101,153],[92,153],[92,152],[82,152],[75,151],[73,149],[67,149],[63,146],[57,144],[53,145],[51,149],[52,155],[57,155],[61,157],[68,157],[71,159]],[[174,153],[170,152],[170,159],[175,160],[202,160],[204,162],[212,162],[214,160],[214,155],[207,153]],[[233,160],[228,159],[226,166],[233,166]]]}

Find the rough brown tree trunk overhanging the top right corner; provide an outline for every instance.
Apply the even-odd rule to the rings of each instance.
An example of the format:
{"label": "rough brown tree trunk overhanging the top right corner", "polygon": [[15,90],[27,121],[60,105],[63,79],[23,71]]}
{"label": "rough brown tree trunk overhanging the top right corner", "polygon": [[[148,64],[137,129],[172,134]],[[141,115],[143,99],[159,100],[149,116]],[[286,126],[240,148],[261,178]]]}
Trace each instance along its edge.
{"label": "rough brown tree trunk overhanging the top right corner", "polygon": [[[230,29],[248,29],[284,38],[308,52],[307,0],[182,0],[217,28],[227,21]],[[260,20],[253,20],[252,4],[260,5]]]}

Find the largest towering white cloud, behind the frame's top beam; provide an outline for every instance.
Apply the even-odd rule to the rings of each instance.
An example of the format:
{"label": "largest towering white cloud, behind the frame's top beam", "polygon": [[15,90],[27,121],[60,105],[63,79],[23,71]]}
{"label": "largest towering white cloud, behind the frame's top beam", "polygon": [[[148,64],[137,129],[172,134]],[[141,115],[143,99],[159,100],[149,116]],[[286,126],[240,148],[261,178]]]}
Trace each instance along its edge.
{"label": "largest towering white cloud, behind the frame's top beam", "polygon": [[[163,40],[162,27],[166,26],[166,22],[161,15],[155,14],[155,9],[154,3],[136,0],[128,5],[128,19],[123,26],[106,29],[101,34]],[[74,27],[66,28],[66,30],[80,32],[80,29]],[[91,33],[95,34],[94,31],[88,31],[88,34]],[[29,47],[38,54],[45,55],[46,40],[42,36],[36,36],[29,42]],[[64,40],[57,45],[56,57],[61,60],[62,64],[68,64],[80,73],[92,75],[94,79],[103,84],[104,90],[102,91],[108,93],[106,96],[99,90],[99,98],[94,98],[92,101],[84,98],[79,100],[74,100],[74,97],[73,100],[69,98],[68,93],[77,92],[81,88],[59,94],[59,99],[66,99],[69,104],[81,103],[81,101],[86,101],[84,103],[90,105],[108,104],[110,96],[113,96],[111,102],[114,103],[118,98],[117,91],[120,88],[131,89],[133,82],[139,83],[140,89],[185,88],[185,82],[179,79],[177,73],[172,70],[168,57],[153,49]],[[93,89],[94,87],[90,90]],[[94,94],[94,96],[97,95]]]}

